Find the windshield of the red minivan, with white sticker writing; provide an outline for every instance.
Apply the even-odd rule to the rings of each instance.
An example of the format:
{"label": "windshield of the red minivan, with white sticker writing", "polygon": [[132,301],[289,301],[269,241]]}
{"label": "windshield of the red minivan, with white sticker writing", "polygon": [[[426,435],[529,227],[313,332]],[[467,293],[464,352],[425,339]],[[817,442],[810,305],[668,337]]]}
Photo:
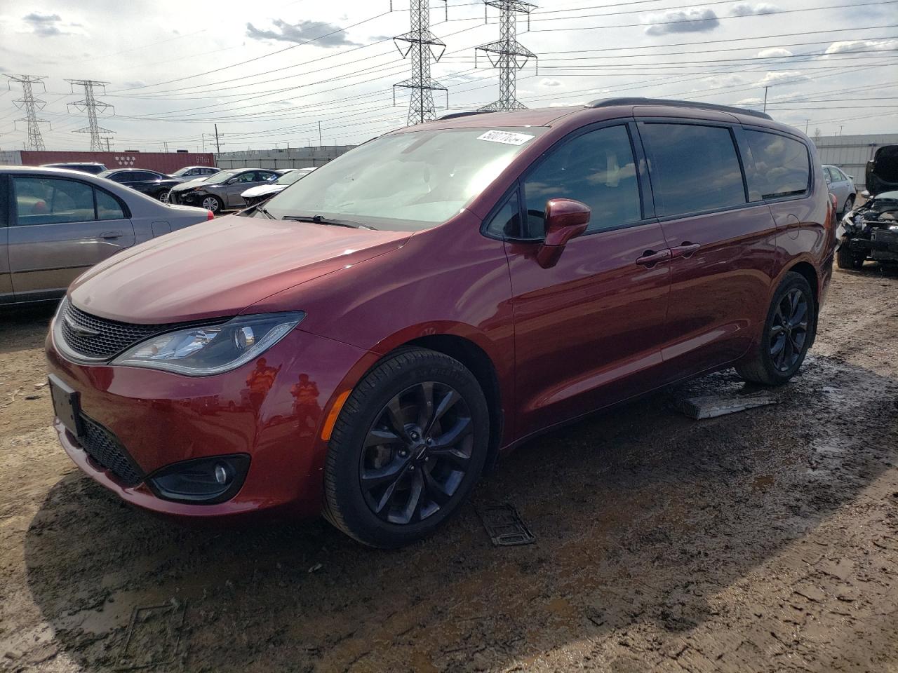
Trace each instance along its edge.
{"label": "windshield of the red minivan, with white sticker writing", "polygon": [[321,215],[378,229],[444,223],[489,186],[546,127],[384,135],[313,170],[266,205],[277,218]]}

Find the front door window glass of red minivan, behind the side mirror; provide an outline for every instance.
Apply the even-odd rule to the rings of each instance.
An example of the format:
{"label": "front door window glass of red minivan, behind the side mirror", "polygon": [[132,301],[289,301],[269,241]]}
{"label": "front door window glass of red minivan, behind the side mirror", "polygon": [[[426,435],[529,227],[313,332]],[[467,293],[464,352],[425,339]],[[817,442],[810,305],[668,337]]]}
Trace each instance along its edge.
{"label": "front door window glass of red minivan, behind the side mirror", "polygon": [[587,232],[642,219],[627,127],[600,128],[579,135],[553,150],[527,177],[527,236],[544,235],[543,218],[550,198],[573,198],[592,208]]}

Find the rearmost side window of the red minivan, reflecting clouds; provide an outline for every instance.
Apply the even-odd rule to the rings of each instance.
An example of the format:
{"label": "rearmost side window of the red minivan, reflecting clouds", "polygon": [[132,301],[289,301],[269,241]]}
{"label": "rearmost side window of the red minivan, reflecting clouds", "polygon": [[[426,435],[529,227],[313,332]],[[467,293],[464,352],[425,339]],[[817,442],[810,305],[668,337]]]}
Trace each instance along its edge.
{"label": "rearmost side window of the red minivan, reflecting clouds", "polygon": [[754,174],[748,181],[753,201],[807,191],[811,162],[804,143],[763,131],[746,131],[745,136],[754,162]]}

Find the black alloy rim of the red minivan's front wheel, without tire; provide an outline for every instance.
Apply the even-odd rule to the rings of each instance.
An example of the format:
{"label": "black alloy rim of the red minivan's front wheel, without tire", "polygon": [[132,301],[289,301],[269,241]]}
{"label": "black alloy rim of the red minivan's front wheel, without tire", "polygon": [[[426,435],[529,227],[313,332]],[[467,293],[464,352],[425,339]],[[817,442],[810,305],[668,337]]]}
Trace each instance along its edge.
{"label": "black alloy rim of the red minivan's front wheel, without tire", "polygon": [[471,466],[474,427],[462,396],[426,380],[383,406],[365,437],[358,478],[383,521],[426,520],[453,498]]}

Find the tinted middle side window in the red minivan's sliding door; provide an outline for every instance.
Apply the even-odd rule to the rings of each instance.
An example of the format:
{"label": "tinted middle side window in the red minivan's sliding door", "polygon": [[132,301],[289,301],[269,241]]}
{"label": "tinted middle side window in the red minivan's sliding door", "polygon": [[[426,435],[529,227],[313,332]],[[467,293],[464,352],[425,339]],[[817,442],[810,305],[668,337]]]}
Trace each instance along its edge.
{"label": "tinted middle side window in the red minivan's sliding door", "polygon": [[743,205],[742,170],[730,130],[687,124],[639,127],[658,216]]}

